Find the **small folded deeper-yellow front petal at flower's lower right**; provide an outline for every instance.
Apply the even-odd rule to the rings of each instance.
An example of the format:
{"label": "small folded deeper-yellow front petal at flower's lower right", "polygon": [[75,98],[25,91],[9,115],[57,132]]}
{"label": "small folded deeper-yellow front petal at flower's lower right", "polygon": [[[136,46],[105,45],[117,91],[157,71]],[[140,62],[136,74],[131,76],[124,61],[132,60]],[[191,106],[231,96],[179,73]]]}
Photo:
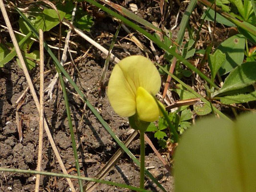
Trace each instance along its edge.
{"label": "small folded deeper-yellow front petal at flower's lower right", "polygon": [[140,120],[144,120],[146,122],[158,120],[158,104],[154,97],[143,87],[139,87],[137,90],[136,109]]}

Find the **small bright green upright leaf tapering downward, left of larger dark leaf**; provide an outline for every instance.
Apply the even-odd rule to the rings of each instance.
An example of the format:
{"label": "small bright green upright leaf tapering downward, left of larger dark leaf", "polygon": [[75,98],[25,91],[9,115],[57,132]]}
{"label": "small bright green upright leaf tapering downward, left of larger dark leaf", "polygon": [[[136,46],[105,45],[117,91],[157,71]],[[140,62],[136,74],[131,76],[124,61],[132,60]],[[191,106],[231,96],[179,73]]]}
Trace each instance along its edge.
{"label": "small bright green upright leaf tapering downward, left of larger dark leaf", "polygon": [[214,80],[217,72],[219,71],[219,68],[221,65],[225,62],[226,55],[222,53],[219,49],[215,51],[215,53],[212,55],[210,54],[209,57],[209,67],[211,70],[211,79]]}

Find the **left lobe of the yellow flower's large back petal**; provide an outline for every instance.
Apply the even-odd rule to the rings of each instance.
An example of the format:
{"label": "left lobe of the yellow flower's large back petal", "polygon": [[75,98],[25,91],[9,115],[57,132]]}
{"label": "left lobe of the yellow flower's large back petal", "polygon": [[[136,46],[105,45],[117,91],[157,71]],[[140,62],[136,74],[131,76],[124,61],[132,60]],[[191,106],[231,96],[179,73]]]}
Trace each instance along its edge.
{"label": "left lobe of the yellow flower's large back petal", "polygon": [[115,65],[110,76],[108,97],[112,108],[118,115],[130,117],[135,114],[135,93],[118,64]]}

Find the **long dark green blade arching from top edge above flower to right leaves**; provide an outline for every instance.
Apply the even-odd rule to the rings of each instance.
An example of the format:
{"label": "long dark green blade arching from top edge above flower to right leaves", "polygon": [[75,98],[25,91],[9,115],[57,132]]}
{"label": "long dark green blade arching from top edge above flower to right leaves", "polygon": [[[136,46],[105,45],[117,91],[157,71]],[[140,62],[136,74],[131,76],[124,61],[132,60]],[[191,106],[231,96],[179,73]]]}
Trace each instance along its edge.
{"label": "long dark green blade arching from top edge above flower to right leaves", "polygon": [[144,36],[146,36],[147,38],[149,38],[150,40],[152,40],[155,44],[158,45],[158,47],[166,50],[168,53],[170,53],[171,55],[173,55],[174,57],[176,57],[178,60],[182,61],[183,64],[185,66],[187,66],[189,69],[191,69],[192,71],[194,71],[195,73],[197,73],[201,78],[203,78],[204,80],[207,81],[208,84],[211,84],[212,86],[214,86],[216,89],[219,89],[219,87],[212,82],[204,73],[202,73],[200,70],[198,70],[194,65],[192,65],[188,60],[184,59],[181,55],[179,55],[178,53],[175,52],[175,50],[172,50],[171,48],[169,48],[166,44],[164,44],[163,42],[161,42],[160,40],[158,40],[158,38],[156,38],[155,36],[152,36],[151,34],[147,33],[144,29],[142,29],[141,27],[139,27],[138,25],[134,24],[133,22],[131,22],[130,20],[124,18],[123,16],[121,16],[120,14],[113,12],[112,10],[110,10],[109,8],[99,4],[98,2],[94,1],[94,0],[85,0],[95,6],[97,6],[98,8],[102,9],[105,12],[108,12],[110,15],[120,19],[123,23],[127,24],[128,26],[132,27],[134,30],[142,33]]}

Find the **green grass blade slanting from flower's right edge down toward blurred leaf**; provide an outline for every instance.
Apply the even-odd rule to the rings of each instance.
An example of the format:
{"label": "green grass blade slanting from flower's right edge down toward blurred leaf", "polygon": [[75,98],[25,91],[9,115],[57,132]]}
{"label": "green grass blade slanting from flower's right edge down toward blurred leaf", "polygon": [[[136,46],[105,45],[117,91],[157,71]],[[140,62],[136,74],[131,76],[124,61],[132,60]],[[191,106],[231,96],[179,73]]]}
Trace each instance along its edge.
{"label": "green grass blade slanting from flower's right edge down toward blurred leaf", "polygon": [[[203,102],[206,103],[207,106],[211,107],[210,102],[207,101],[207,99],[205,99],[205,98],[204,98],[203,96],[201,96],[200,94],[196,93],[195,90],[194,90],[191,86],[185,84],[185,83],[184,83],[183,81],[181,81],[178,77],[176,77],[175,75],[173,75],[173,74],[171,74],[170,72],[168,72],[165,68],[163,68],[163,67],[162,67],[161,65],[159,65],[158,63],[157,63],[157,65],[158,65],[158,67],[159,67],[161,70],[163,70],[164,72],[166,72],[167,74],[169,74],[175,81],[177,81],[178,83],[182,84],[183,87],[185,87],[187,90],[189,90],[192,94],[194,94],[196,97],[199,97]],[[213,107],[213,109],[214,109],[214,111],[215,111],[216,113],[218,113],[219,116],[222,117],[223,119],[231,120],[231,119],[228,118],[225,114],[221,113],[217,108]]]}

